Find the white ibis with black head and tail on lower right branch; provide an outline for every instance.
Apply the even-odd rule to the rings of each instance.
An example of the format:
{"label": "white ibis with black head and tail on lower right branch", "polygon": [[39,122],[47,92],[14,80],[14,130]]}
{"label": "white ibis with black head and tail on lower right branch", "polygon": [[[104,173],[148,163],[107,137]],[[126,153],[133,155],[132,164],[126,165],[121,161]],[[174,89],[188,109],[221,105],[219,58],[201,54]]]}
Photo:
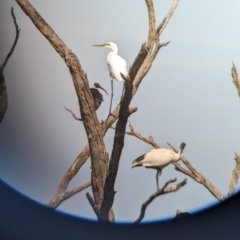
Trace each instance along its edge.
{"label": "white ibis with black head and tail on lower right branch", "polygon": [[162,173],[162,169],[172,162],[179,161],[185,146],[186,143],[182,142],[177,153],[166,148],[152,149],[148,153],[136,158],[132,163],[132,168],[144,166],[146,168],[156,169],[157,190],[159,190],[158,178]]}

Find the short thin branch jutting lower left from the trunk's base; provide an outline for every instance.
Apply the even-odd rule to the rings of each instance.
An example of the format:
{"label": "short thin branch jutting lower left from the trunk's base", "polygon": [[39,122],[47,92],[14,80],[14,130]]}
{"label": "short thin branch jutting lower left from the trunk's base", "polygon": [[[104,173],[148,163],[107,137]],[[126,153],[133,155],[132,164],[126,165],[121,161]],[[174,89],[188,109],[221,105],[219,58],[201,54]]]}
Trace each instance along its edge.
{"label": "short thin branch jutting lower left from the trunk's base", "polygon": [[50,207],[52,209],[57,208],[63,201],[65,201],[66,199],[72,197],[73,195],[75,195],[76,193],[81,192],[82,190],[88,188],[91,186],[91,181],[83,184],[80,187],[77,187],[69,192],[67,191],[63,191],[61,195],[57,195],[55,198],[53,198],[48,204],[47,207]]}

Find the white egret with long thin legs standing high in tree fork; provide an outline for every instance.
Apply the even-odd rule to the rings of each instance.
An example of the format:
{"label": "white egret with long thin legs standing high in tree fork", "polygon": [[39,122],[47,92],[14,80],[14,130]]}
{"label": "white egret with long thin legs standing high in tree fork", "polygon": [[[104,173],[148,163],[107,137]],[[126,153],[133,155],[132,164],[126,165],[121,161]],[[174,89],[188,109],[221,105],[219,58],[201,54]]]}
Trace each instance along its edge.
{"label": "white egret with long thin legs standing high in tree fork", "polygon": [[[119,82],[124,81],[122,78],[121,74],[122,73],[124,76],[128,74],[127,70],[127,62],[125,59],[120,57],[118,53],[118,46],[113,43],[113,42],[107,42],[103,44],[96,44],[93,45],[94,47],[105,47],[105,48],[110,48],[112,51],[108,53],[107,55],[107,66],[108,70],[110,73],[110,78],[111,78],[111,102],[110,102],[110,109],[109,109],[109,114],[111,113],[111,108],[112,108],[112,99],[113,99],[113,79],[116,79]],[[124,91],[124,85],[123,85],[123,91]],[[122,96],[123,96],[123,91],[122,91]]]}

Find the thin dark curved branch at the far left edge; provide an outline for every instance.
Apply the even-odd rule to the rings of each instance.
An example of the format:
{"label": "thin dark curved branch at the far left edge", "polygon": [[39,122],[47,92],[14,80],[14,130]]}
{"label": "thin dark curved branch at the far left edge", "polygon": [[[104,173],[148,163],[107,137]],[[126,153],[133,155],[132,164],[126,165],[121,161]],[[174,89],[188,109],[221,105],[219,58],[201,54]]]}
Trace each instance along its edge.
{"label": "thin dark curved branch at the far left edge", "polygon": [[4,115],[5,115],[5,112],[7,110],[7,107],[8,107],[7,87],[6,87],[6,82],[5,82],[3,70],[6,66],[9,58],[13,54],[13,51],[14,51],[16,45],[17,45],[17,41],[18,41],[19,34],[20,34],[20,29],[18,28],[18,25],[17,25],[17,20],[16,20],[16,17],[14,15],[13,7],[11,8],[11,15],[12,15],[15,30],[16,30],[16,36],[15,36],[15,40],[13,42],[13,45],[12,45],[9,53],[7,54],[3,64],[0,66],[0,122],[2,122],[2,120],[4,118]]}

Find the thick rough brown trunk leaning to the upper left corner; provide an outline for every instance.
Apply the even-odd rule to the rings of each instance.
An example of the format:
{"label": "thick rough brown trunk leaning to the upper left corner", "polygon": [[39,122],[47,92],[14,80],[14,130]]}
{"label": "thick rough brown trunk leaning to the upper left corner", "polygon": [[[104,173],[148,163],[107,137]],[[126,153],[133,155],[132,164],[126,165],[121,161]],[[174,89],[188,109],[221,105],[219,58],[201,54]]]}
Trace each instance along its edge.
{"label": "thick rough brown trunk leaning to the upper left corner", "polygon": [[96,209],[100,209],[104,193],[103,188],[106,178],[108,154],[103,141],[101,125],[94,109],[87,75],[84,73],[77,56],[64,44],[29,1],[16,0],[16,2],[26,15],[30,17],[37,29],[47,38],[53,48],[60,54],[69,68],[91,152],[91,178],[95,206]]}

